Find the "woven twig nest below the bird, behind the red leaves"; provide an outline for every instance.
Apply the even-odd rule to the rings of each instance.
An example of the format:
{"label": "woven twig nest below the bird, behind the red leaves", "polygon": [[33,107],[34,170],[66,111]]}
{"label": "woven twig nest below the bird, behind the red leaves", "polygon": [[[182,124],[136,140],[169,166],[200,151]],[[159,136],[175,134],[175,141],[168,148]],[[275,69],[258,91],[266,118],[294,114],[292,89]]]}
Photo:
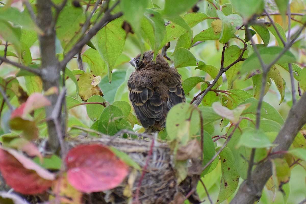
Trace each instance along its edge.
{"label": "woven twig nest below the bird, behind the red leaves", "polygon": [[[120,186],[108,191],[84,195],[84,199],[87,200],[85,203],[125,204],[134,201],[138,204],[176,204],[183,203],[186,195],[191,203],[200,203],[195,191],[200,178],[200,171],[197,170],[201,169],[199,158],[188,159],[187,177],[178,182],[177,171],[172,161],[173,156],[171,156],[171,150],[167,143],[155,141],[152,154],[149,157],[152,142],[147,140],[103,136],[103,138],[83,138],[69,141],[70,148],[80,144],[93,143],[113,146],[125,152],[141,168],[146,165],[147,161],[148,165],[140,186],[139,180],[143,172],[134,169],[129,172]],[[138,193],[136,193],[137,189]],[[136,195],[137,201],[135,201]]]}

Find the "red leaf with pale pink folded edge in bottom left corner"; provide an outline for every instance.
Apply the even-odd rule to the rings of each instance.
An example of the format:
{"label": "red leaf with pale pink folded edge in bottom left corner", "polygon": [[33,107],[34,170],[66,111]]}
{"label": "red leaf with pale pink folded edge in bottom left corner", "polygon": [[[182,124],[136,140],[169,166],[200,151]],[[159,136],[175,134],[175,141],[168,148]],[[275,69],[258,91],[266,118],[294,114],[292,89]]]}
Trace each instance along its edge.
{"label": "red leaf with pale pink folded edge in bottom left corner", "polygon": [[12,149],[0,149],[0,170],[6,183],[25,195],[46,191],[55,179],[53,173]]}

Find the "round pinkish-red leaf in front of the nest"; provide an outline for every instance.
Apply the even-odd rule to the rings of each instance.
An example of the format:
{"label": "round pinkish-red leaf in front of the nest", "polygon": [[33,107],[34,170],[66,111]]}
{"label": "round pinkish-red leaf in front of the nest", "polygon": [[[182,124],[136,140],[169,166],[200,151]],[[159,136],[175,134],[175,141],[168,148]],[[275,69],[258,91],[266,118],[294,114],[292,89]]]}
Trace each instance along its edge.
{"label": "round pinkish-red leaf in front of the nest", "polygon": [[77,146],[65,161],[69,183],[86,193],[117,187],[129,172],[123,161],[99,144]]}

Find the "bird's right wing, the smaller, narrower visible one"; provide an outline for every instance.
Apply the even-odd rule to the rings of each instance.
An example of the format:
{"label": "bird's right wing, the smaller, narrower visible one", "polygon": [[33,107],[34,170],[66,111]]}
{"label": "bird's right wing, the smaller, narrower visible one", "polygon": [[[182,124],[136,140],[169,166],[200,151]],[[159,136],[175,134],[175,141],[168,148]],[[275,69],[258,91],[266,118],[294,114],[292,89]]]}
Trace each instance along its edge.
{"label": "bird's right wing, the smaller, narrower visible one", "polygon": [[169,84],[169,91],[168,91],[168,101],[167,105],[170,109],[172,106],[185,102],[185,92],[182,87],[181,83],[181,75],[177,72],[174,72],[171,77],[171,83]]}

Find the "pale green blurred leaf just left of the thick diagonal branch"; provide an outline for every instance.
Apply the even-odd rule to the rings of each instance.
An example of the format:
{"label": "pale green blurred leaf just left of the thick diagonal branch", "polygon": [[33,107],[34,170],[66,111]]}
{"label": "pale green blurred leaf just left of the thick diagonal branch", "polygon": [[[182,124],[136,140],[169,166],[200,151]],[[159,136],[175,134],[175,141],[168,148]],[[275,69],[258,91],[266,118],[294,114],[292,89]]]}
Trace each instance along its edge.
{"label": "pale green blurred leaf just left of the thick diagonal branch", "polygon": [[266,133],[259,129],[250,129],[243,132],[236,147],[245,146],[249,148],[268,148],[277,145],[272,144]]}

